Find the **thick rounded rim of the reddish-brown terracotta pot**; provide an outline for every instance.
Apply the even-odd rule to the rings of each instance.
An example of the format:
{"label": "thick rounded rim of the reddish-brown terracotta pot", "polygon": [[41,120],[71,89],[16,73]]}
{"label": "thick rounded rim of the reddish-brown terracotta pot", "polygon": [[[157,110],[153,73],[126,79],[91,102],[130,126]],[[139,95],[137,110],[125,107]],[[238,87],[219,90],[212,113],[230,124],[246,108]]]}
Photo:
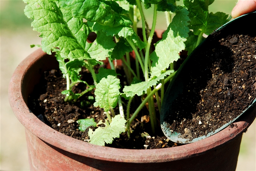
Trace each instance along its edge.
{"label": "thick rounded rim of the reddish-brown terracotta pot", "polygon": [[[243,114],[234,124],[236,127],[222,131],[195,143],[164,149],[116,149],[98,146],[66,136],[44,124],[36,115],[31,113],[22,96],[22,80],[30,66],[38,59],[47,55],[41,49],[36,50],[25,58],[16,68],[9,84],[9,102],[12,110],[22,125],[46,143],[52,144],[62,150],[79,154],[85,157],[107,161],[149,163],[166,162],[185,159],[224,144],[232,138],[244,133],[255,119],[253,112]],[[247,117],[245,117],[245,115]]]}

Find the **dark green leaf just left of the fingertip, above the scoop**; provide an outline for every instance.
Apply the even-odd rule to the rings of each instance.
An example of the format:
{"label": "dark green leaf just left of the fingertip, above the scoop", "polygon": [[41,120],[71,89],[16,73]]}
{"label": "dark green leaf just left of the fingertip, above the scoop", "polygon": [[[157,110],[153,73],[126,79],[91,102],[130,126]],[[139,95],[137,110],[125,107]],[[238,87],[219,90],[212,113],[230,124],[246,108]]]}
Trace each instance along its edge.
{"label": "dark green leaf just left of the fingertip, above the scoop", "polygon": [[209,14],[209,19],[207,20],[207,26],[204,34],[210,35],[213,30],[219,28],[226,22],[228,22],[228,15],[223,12],[216,12],[213,14],[212,12]]}

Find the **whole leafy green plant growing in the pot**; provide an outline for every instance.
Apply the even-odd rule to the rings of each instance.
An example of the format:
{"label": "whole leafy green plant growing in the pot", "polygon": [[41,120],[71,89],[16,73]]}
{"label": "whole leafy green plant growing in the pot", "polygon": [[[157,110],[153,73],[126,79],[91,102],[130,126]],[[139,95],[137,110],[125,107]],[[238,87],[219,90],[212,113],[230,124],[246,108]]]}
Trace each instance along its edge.
{"label": "whole leafy green plant growing in the pot", "polygon": [[[208,5],[214,0],[183,0],[177,6],[175,0],[23,0],[28,5],[25,15],[33,19],[33,30],[40,32],[42,50],[48,54],[55,52],[60,70],[67,80],[65,101],[75,102],[85,93],[95,89],[94,106],[104,108],[108,120],[96,123],[93,119],[78,120],[79,129],[104,124],[94,132],[89,129],[90,143],[105,145],[113,138],[127,131],[130,136],[130,123],[147,103],[152,134],[158,126],[154,101],[158,111],[164,97],[164,84],[174,76],[173,62],[177,61],[182,50],[188,54],[202,41],[203,34],[212,31],[229,19],[222,12],[208,12]],[[143,9],[154,8],[152,27],[148,28]],[[163,39],[151,50],[155,32],[157,12],[164,12],[167,29]],[[137,34],[137,22],[142,22],[142,35]],[[164,23],[165,24],[165,23]],[[97,38],[87,42],[88,35],[94,32]],[[129,52],[135,52],[135,66],[131,68]],[[98,74],[95,65],[109,60],[111,69],[100,67]],[[121,59],[127,83],[120,92],[120,81],[116,77],[113,61]],[[92,74],[93,85],[80,79],[81,67]],[[140,75],[144,75],[143,78]],[[87,85],[79,94],[72,92],[78,82]],[[158,90],[161,89],[161,94]],[[130,112],[134,96],[141,96],[141,104]],[[93,97],[92,97],[93,99]],[[124,114],[122,101],[128,101]],[[88,100],[90,101],[90,100]],[[115,115],[114,108],[119,106]],[[131,113],[131,118],[130,118]],[[112,115],[112,116],[111,116]]]}

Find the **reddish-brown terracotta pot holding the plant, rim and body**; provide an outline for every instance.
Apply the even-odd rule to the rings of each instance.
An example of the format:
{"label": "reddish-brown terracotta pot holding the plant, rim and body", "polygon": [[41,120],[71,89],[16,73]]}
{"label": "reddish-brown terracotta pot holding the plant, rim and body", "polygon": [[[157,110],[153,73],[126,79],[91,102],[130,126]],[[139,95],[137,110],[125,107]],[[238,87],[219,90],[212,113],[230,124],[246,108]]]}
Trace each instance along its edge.
{"label": "reddish-brown terracotta pot holding the plant, rim and body", "polygon": [[256,108],[219,133],[182,146],[128,150],[89,144],[44,124],[27,106],[28,94],[45,70],[57,68],[53,55],[37,50],[16,68],[10,85],[13,112],[26,128],[31,170],[235,170],[242,134]]}

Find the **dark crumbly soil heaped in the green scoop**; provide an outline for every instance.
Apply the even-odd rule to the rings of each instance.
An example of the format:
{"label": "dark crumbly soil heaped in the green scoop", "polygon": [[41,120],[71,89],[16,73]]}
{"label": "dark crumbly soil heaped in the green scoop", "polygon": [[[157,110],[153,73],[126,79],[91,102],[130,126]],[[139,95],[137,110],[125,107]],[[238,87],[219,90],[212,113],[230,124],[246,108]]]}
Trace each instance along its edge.
{"label": "dark crumbly soil heaped in the green scoop", "polygon": [[172,105],[175,114],[166,119],[170,130],[187,139],[234,120],[256,97],[256,37],[229,35],[199,55],[207,67],[198,64],[200,74],[188,73],[185,90]]}

